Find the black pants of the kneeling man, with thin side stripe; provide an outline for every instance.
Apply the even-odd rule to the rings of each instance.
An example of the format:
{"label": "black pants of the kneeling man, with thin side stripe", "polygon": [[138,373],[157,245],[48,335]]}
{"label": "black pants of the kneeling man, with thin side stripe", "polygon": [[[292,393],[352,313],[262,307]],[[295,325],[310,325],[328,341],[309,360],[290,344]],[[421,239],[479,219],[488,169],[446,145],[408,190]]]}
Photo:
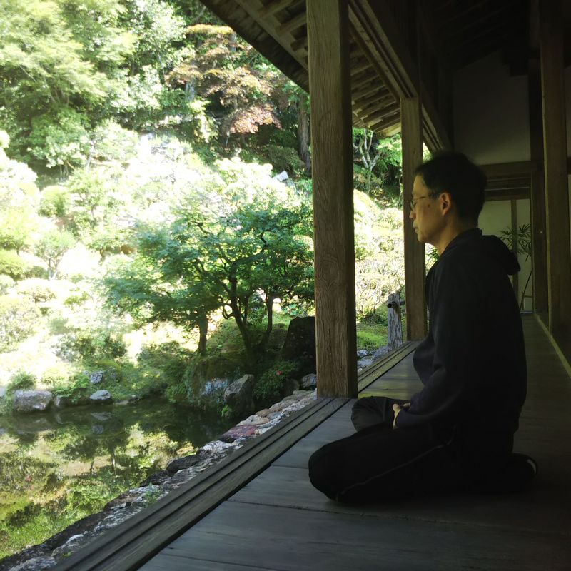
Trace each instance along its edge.
{"label": "black pants of the kneeling man, with thin side stripe", "polygon": [[357,432],[313,453],[311,483],[340,502],[374,502],[458,488],[460,470],[450,451],[450,435],[438,434],[428,423],[393,429],[393,404],[405,402],[359,399],[351,416]]}

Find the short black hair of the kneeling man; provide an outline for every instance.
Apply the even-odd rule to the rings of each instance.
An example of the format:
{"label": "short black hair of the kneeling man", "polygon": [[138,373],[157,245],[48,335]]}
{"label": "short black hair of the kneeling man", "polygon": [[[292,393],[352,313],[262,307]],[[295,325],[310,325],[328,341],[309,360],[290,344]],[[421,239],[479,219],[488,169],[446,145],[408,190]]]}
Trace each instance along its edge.
{"label": "short black hair of the kneeling man", "polygon": [[484,206],[487,177],[482,169],[469,161],[463,153],[435,153],[416,168],[415,174],[423,177],[431,195],[449,192],[458,216],[477,224],[477,218]]}

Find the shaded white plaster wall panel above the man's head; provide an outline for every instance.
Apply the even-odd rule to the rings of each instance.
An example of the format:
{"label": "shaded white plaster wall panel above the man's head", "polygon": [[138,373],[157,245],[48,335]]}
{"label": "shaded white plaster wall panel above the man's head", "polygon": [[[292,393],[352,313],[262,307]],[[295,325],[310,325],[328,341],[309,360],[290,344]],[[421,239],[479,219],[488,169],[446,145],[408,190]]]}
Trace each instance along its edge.
{"label": "shaded white plaster wall panel above the man's head", "polygon": [[527,76],[511,77],[500,52],[456,73],[453,115],[454,147],[475,163],[530,160]]}

